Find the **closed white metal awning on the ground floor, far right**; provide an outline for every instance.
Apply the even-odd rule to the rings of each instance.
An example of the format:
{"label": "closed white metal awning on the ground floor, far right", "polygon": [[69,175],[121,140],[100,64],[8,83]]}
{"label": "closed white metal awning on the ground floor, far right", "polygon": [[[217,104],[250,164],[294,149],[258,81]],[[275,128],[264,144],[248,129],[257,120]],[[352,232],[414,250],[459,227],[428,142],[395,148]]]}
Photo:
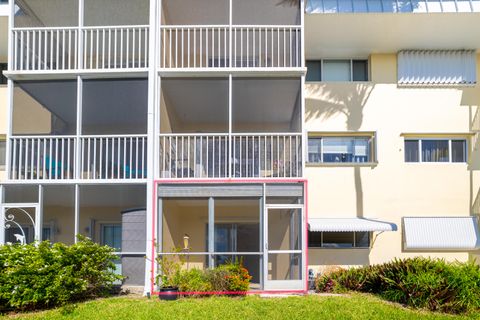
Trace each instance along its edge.
{"label": "closed white metal awning on the ground floor, far right", "polygon": [[475,250],[480,248],[477,217],[405,217],[405,249]]}

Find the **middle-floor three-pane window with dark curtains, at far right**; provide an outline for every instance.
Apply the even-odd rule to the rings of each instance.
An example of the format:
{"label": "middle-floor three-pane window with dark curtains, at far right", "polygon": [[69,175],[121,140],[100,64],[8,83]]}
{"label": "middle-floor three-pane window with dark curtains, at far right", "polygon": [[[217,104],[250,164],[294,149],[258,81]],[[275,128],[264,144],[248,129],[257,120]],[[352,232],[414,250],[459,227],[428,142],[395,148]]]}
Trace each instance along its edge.
{"label": "middle-floor three-pane window with dark curtains, at far right", "polygon": [[405,139],[405,162],[466,162],[465,139]]}

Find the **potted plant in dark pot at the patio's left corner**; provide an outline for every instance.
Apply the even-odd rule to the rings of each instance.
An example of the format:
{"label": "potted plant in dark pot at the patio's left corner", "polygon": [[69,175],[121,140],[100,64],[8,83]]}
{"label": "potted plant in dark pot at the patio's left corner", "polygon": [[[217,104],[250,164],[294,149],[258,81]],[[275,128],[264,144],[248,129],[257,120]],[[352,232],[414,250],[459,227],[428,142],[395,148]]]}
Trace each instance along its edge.
{"label": "potted plant in dark pot at the patio's left corner", "polygon": [[[174,252],[180,251],[181,250],[175,249]],[[184,257],[180,254],[159,255],[156,260],[159,267],[157,284],[160,288],[160,300],[177,300],[178,281],[185,263]]]}

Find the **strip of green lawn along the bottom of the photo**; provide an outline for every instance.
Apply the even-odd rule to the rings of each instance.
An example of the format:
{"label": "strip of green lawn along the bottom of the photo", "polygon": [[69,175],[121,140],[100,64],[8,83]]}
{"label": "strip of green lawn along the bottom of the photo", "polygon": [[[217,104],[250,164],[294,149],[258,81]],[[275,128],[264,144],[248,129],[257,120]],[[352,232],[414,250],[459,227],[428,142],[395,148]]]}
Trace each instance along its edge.
{"label": "strip of green lawn along the bottom of the photo", "polygon": [[3,319],[480,319],[414,311],[364,294],[260,298],[212,297],[159,301],[158,298],[116,297],[78,305],[11,314]]}

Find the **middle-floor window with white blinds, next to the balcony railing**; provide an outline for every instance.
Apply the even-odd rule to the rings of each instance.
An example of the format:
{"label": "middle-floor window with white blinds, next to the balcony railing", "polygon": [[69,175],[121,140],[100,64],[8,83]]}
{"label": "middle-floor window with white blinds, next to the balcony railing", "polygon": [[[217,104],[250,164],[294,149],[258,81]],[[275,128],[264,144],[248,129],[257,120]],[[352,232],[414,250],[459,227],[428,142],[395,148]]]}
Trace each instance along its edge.
{"label": "middle-floor window with white blinds, next to the balcony railing", "polygon": [[372,139],[372,136],[310,137],[308,138],[308,162],[372,162]]}

